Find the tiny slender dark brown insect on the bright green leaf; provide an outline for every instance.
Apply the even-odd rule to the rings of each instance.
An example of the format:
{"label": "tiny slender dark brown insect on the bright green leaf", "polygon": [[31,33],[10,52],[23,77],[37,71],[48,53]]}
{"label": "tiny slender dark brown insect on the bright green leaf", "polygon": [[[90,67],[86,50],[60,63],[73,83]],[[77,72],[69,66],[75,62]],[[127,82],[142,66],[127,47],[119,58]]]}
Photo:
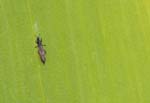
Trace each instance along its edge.
{"label": "tiny slender dark brown insect on the bright green leaf", "polygon": [[36,47],[38,47],[38,54],[39,54],[39,56],[40,56],[41,62],[42,62],[43,64],[45,64],[45,62],[46,62],[46,57],[45,57],[45,55],[46,55],[46,50],[43,48],[43,46],[45,46],[45,45],[42,44],[42,38],[40,38],[40,37],[38,36],[38,37],[36,38],[36,43],[37,43],[37,46],[36,46]]}

